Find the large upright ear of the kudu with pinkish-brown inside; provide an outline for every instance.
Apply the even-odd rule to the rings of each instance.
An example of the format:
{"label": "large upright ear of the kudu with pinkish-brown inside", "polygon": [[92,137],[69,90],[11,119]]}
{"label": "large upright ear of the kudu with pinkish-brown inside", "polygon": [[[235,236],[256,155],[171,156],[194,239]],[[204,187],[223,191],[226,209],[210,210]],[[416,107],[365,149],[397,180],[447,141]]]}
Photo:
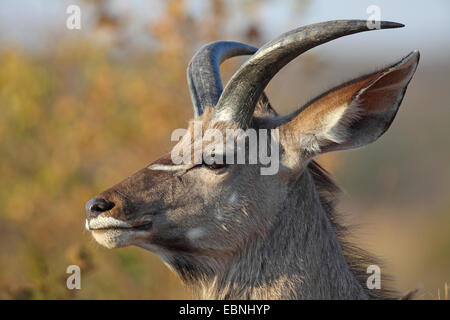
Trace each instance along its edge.
{"label": "large upright ear of the kudu with pinkish-brown inside", "polygon": [[418,63],[419,52],[411,52],[390,67],[312,100],[279,126],[284,148],[298,159],[298,152],[313,157],[375,141],[394,120]]}

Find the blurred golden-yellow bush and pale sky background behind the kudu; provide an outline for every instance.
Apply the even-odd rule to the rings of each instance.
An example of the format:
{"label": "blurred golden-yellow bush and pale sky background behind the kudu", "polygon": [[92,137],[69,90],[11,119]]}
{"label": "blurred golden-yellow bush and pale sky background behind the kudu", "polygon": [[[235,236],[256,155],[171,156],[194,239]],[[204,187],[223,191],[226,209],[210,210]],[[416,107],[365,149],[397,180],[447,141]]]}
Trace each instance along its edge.
{"label": "blurred golden-yellow bush and pale sky background behind the kudu", "polygon": [[[66,28],[67,6],[81,30]],[[365,149],[320,158],[344,193],[354,241],[386,262],[401,292],[443,299],[450,282],[450,2],[0,1],[0,298],[179,299],[189,292],[153,254],[107,250],[84,231],[84,204],[170,150],[192,116],[185,70],[214,40],[255,46],[334,19],[403,29],[304,54],[269,85],[281,113],[419,49],[391,129]],[[226,81],[245,58],[222,67]],[[66,268],[81,267],[81,290]]]}

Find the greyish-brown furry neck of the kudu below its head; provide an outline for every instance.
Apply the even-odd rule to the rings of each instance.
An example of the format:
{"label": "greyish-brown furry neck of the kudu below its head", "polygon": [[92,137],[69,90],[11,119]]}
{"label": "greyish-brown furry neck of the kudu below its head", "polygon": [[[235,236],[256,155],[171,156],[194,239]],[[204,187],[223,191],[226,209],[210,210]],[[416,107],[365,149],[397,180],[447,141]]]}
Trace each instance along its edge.
{"label": "greyish-brown furry neck of the kudu below its head", "polygon": [[346,261],[309,169],[292,184],[265,237],[226,262],[202,265],[214,272],[205,269],[188,284],[206,299],[370,297]]}

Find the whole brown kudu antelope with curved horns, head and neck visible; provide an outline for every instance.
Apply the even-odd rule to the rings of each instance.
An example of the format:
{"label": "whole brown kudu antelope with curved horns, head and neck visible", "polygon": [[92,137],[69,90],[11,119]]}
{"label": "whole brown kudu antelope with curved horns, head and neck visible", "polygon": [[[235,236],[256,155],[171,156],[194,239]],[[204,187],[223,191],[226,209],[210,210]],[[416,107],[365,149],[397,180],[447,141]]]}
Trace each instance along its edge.
{"label": "whole brown kudu antelope with curved horns, head and neck visible", "polygon": [[[388,129],[419,52],[288,115],[278,115],[264,94],[301,53],[363,31],[366,21],[329,21],[292,30],[259,50],[226,41],[201,48],[187,71],[194,121],[222,131],[278,129],[278,173],[261,175],[259,162],[174,165],[167,154],[90,200],[86,228],[108,248],[135,245],[157,254],[200,298],[392,297],[384,284],[367,288],[366,268],[376,261],[345,241],[334,209],[338,189],[314,158],[362,147]],[[251,57],[222,90],[219,65],[238,55]]]}

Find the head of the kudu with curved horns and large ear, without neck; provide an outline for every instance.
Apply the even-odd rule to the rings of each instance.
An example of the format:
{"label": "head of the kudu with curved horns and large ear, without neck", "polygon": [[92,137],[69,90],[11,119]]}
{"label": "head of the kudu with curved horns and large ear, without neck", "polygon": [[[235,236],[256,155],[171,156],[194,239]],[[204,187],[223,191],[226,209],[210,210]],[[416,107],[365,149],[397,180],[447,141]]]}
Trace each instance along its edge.
{"label": "head of the kudu with curved horns and large ear, without neck", "polygon": [[[380,26],[402,27],[393,22],[381,22]],[[317,211],[311,219],[322,215],[320,203],[314,204],[318,201],[315,186],[307,179],[308,165],[322,153],[373,142],[389,128],[416,70],[419,53],[414,51],[393,65],[333,88],[284,116],[271,108],[264,89],[282,67],[303,52],[369,30],[362,20],[329,21],[292,30],[259,50],[224,41],[201,48],[187,72],[194,120],[174,147],[177,150],[89,200],[87,230],[108,248],[135,245],[157,254],[186,282],[217,280],[219,274],[218,281],[226,281],[226,274],[237,268],[237,260],[248,260],[245,263],[250,265],[252,259],[264,261],[273,251],[283,251],[284,247],[250,248],[262,248],[259,243],[275,237],[274,230],[281,230],[279,239],[284,237],[282,230],[294,230],[289,235],[294,239],[312,228],[307,224],[313,220],[297,213]],[[219,65],[237,55],[251,57],[222,90]],[[196,125],[201,129],[196,130]],[[220,151],[228,147],[222,145],[225,139],[209,140],[214,149],[210,158],[205,156],[204,140],[194,145],[196,137],[208,129],[223,135],[228,129],[244,133],[270,130],[272,134],[265,138],[257,135],[256,142],[244,134],[245,163],[235,163],[232,160],[238,155],[229,161],[228,154],[225,158]],[[238,140],[236,136],[233,144]],[[277,155],[271,158],[278,162],[276,172],[262,174],[261,169],[270,164],[259,157],[249,162],[252,143],[258,150],[267,147],[272,156]],[[175,163],[173,155],[181,149],[193,151],[192,156]],[[294,221],[289,220],[290,215],[303,220],[290,223]],[[323,218],[321,237],[332,233],[329,224]],[[298,259],[305,257],[299,253]],[[297,264],[296,260],[267,259],[252,272],[263,274],[264,265],[269,268],[277,263]]]}

